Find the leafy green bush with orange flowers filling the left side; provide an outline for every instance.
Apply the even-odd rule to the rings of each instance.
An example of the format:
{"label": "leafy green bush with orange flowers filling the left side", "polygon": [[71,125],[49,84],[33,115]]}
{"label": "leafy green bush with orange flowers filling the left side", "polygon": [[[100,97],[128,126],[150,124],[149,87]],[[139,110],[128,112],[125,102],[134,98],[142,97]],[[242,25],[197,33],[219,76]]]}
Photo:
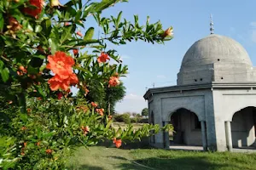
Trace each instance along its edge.
{"label": "leafy green bush with orange flowers filling the left side", "polygon": [[[102,16],[104,9],[123,2],[0,1],[1,168],[63,169],[65,155],[75,146],[107,138],[119,147],[122,140],[151,135],[152,129],[172,128],[145,124],[137,131],[131,125],[115,130],[104,111],[108,90],[118,87],[128,70],[108,44],[172,39],[172,27],[164,31],[149,18],[141,26],[137,15],[133,22],[122,20],[122,12]],[[99,30],[87,25],[89,17]],[[78,89],[75,97],[71,87]]]}

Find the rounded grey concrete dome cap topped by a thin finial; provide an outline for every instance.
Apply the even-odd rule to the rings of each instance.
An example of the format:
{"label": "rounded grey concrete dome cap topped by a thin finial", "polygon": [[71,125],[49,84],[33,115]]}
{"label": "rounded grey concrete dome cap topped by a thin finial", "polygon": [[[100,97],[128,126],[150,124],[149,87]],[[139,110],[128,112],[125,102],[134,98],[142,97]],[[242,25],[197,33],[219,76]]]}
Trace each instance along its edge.
{"label": "rounded grey concrete dome cap topped by a thin finial", "polygon": [[183,57],[181,69],[213,64],[218,61],[229,64],[253,66],[245,48],[230,37],[212,34],[195,42]]}

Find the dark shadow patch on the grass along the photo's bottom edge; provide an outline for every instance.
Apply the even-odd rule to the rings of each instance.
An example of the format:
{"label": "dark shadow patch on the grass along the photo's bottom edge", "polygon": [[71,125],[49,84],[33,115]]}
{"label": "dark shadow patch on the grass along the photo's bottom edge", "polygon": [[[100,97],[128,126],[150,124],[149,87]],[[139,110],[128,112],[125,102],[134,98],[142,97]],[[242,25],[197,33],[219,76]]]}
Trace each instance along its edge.
{"label": "dark shadow patch on the grass along the photo's bottom edge", "polygon": [[239,167],[230,164],[209,162],[204,156],[185,156],[180,158],[170,158],[170,156],[150,157],[147,159],[132,160],[131,164],[122,163],[117,165],[116,168],[120,170],[218,170],[220,168],[230,170],[240,169]]}

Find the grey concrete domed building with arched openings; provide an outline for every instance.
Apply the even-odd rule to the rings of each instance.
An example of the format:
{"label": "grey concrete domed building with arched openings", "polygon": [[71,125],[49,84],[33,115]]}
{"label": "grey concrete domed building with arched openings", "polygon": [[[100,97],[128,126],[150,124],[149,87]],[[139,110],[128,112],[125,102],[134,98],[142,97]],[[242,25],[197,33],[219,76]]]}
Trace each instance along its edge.
{"label": "grey concrete domed building with arched openings", "polygon": [[172,123],[175,133],[158,133],[159,148],[201,146],[203,150],[256,148],[256,69],[239,42],[211,34],[183,57],[177,86],[149,88],[149,122]]}

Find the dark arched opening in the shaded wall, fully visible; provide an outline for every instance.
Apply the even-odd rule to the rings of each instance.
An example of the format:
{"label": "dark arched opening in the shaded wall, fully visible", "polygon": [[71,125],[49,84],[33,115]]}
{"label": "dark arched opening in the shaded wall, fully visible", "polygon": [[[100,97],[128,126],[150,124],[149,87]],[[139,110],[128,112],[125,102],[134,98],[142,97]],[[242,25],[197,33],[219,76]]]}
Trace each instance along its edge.
{"label": "dark arched opening in the shaded wall, fully visible", "polygon": [[181,108],[172,113],[174,133],[169,133],[170,145],[202,146],[201,122],[192,111]]}

